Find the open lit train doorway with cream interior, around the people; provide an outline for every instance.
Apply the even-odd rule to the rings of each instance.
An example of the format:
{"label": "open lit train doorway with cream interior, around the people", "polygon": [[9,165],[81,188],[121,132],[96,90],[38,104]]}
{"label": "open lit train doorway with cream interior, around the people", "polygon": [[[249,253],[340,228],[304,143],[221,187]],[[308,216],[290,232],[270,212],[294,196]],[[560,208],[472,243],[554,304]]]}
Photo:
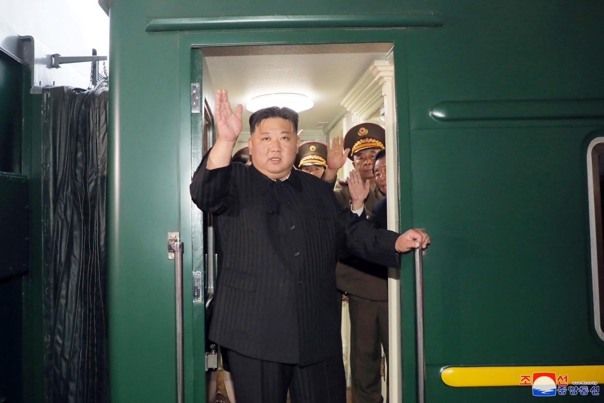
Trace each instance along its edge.
{"label": "open lit train doorway with cream interior, around the people", "polygon": [[[305,45],[252,45],[195,47],[191,50],[191,170],[196,169],[202,155],[212,146],[214,97],[217,88],[229,91],[231,106],[243,105],[243,131],[234,152],[245,147],[249,138],[247,121],[251,111],[246,104],[263,94],[295,93],[309,97],[315,105],[300,112],[298,129],[301,142],[319,141],[330,143],[335,137],[343,137],[350,127],[371,122],[386,131],[387,193],[391,200],[399,200],[399,145],[396,126],[396,93],[394,91],[394,53],[391,42],[356,44],[305,44]],[[353,169],[347,161],[338,172],[338,180],[345,179]],[[212,301],[216,278],[219,276],[219,256],[216,234],[211,216],[201,211],[191,211],[193,239],[193,272],[205,284],[204,304],[194,306],[193,329],[209,330]],[[390,229],[399,229],[399,203],[388,204]],[[400,393],[401,385],[401,334],[400,327],[400,274],[398,268],[388,269],[388,350],[385,359],[382,349],[381,388],[382,396]],[[203,313],[203,315],[202,315]],[[350,363],[350,313],[349,302],[342,303],[342,358],[345,364],[347,388],[352,384]],[[193,340],[196,350],[200,340]],[[205,339],[204,350],[211,363],[205,370],[207,401],[220,401],[228,392],[228,373],[222,371],[218,347]],[[390,363],[390,368],[385,363]],[[353,365],[353,364],[352,364]],[[217,369],[212,367],[216,366]],[[201,371],[201,369],[199,369]],[[388,375],[387,375],[388,374]],[[221,388],[225,379],[226,388]],[[389,381],[387,380],[389,376]],[[198,376],[196,376],[198,378]],[[388,391],[390,384],[390,392]],[[216,399],[219,391],[219,398]],[[198,393],[196,393],[196,396]],[[350,399],[350,396],[349,396]]]}

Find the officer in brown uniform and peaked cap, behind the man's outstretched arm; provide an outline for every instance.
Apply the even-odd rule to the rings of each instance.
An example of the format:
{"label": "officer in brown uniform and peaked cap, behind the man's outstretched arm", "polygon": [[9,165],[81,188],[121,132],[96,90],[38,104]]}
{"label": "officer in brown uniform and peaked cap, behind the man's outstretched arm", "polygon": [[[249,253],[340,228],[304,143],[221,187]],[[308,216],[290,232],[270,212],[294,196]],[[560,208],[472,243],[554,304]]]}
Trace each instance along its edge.
{"label": "officer in brown uniform and peaked cap, behind the man's outstretched arm", "polygon": [[[337,170],[344,165],[342,156],[353,160],[356,173],[351,179],[359,182],[358,177],[369,187],[364,199],[351,192],[349,183],[338,181],[334,192],[344,207],[358,211],[367,218],[377,201],[385,198],[385,193],[375,182],[373,164],[378,152],[385,149],[385,131],[378,124],[362,123],[352,127],[344,137],[332,141],[329,149],[328,169],[324,180],[333,181]],[[355,199],[356,198],[356,199]],[[341,254],[336,268],[336,285],[349,298],[350,311],[350,368],[352,376],[352,395],[354,403],[382,402],[381,388],[381,346],[388,356],[388,273],[384,266],[374,265],[356,257]]]}

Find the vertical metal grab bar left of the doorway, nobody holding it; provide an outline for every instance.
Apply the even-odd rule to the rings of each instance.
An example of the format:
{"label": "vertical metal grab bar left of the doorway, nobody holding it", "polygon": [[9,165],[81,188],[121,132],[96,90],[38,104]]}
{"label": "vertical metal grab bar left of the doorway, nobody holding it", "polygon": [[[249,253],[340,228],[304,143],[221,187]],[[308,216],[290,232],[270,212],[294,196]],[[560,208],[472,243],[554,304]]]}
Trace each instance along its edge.
{"label": "vertical metal grab bar left of the doorway, nobody holding it", "polygon": [[182,254],[180,234],[168,233],[168,259],[174,260],[176,314],[176,402],[184,403],[184,352],[182,348]]}

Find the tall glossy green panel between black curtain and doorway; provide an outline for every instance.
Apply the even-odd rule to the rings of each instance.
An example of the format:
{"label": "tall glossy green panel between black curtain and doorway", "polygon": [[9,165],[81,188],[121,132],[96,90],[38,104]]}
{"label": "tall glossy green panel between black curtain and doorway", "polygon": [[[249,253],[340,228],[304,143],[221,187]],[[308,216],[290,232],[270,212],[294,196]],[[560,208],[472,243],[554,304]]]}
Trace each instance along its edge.
{"label": "tall glossy green panel between black curtain and doorway", "polygon": [[167,233],[184,229],[178,38],[151,37],[144,25],[128,29],[140,11],[115,11],[108,139],[111,401],[170,402],[176,396],[175,286]]}

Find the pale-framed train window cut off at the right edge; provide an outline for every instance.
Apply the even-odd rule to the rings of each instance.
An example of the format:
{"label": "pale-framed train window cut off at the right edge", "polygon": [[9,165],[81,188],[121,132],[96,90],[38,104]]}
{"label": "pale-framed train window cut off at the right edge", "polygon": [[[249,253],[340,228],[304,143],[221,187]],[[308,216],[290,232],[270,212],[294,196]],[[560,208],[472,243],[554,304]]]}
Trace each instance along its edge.
{"label": "pale-framed train window cut off at the right edge", "polygon": [[591,272],[594,295],[594,324],[604,340],[604,137],[591,141],[587,150],[590,197]]}

